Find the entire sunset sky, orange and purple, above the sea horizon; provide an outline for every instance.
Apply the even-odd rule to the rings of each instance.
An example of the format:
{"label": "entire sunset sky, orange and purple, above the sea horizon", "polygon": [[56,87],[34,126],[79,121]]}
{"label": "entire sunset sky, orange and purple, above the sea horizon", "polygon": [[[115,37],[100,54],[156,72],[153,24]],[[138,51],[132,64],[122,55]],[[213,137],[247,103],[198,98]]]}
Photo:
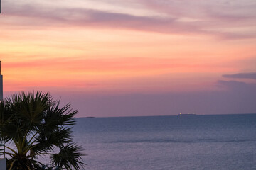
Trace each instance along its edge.
{"label": "entire sunset sky, orange and purple, above the sea horizon", "polygon": [[4,97],[78,117],[256,113],[256,1],[2,0]]}

